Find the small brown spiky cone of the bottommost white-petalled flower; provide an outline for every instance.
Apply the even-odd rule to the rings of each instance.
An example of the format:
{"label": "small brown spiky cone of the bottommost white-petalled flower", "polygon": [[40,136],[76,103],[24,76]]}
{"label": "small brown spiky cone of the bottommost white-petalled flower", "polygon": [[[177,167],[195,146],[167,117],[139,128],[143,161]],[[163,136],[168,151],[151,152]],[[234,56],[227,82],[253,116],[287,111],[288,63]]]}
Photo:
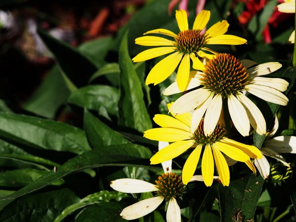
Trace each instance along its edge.
{"label": "small brown spiky cone of the bottommost white-petalled flower", "polygon": [[157,195],[163,196],[167,201],[185,193],[185,185],[182,183],[181,176],[175,173],[162,174],[155,183],[158,188]]}

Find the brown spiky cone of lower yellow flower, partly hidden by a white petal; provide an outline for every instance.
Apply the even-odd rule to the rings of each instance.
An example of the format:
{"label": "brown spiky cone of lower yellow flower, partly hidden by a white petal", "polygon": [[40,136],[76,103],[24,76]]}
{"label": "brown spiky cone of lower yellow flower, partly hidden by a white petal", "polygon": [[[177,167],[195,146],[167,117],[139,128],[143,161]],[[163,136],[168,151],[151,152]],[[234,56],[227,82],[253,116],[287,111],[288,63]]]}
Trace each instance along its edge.
{"label": "brown spiky cone of lower yellow flower, partly hidden by a white petal", "polygon": [[221,140],[226,133],[225,129],[221,127],[221,124],[218,123],[214,132],[210,136],[206,136],[203,130],[203,125],[204,121],[201,120],[192,138],[197,144],[202,144],[203,146],[206,146],[207,144],[214,144],[215,142]]}

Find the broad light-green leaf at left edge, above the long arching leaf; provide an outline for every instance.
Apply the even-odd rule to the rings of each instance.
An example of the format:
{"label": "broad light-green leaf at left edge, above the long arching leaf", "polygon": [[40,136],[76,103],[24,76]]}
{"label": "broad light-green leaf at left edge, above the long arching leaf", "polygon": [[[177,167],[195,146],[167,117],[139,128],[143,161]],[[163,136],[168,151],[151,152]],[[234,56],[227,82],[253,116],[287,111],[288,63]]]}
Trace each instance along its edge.
{"label": "broad light-green leaf at left edge, above the long arching leaf", "polygon": [[0,136],[32,148],[76,154],[91,149],[82,130],[65,123],[26,115],[0,113]]}

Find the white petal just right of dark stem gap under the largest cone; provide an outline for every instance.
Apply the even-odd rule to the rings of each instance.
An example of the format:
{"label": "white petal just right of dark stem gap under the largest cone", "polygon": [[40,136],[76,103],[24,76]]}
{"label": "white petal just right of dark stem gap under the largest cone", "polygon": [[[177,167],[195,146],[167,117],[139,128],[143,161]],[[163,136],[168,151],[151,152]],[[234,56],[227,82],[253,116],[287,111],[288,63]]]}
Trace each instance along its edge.
{"label": "white petal just right of dark stem gap under the largest cone", "polygon": [[228,97],[228,110],[237,131],[244,137],[249,136],[250,121],[247,111],[233,95]]}

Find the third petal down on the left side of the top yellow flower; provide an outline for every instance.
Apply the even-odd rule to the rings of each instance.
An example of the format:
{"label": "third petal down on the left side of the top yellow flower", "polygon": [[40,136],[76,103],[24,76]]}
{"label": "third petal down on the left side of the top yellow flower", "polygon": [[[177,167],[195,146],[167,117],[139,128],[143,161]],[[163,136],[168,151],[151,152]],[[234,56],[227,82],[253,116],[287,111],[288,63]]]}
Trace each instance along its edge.
{"label": "third petal down on the left side of the top yellow flower", "polygon": [[146,61],[149,59],[153,59],[156,58],[158,56],[162,56],[165,54],[168,54],[170,52],[174,52],[176,49],[176,47],[158,47],[158,48],[150,48],[147,49],[143,52],[140,52],[138,55],[136,55],[133,58],[134,63],[136,62],[142,62],[142,61]]}

